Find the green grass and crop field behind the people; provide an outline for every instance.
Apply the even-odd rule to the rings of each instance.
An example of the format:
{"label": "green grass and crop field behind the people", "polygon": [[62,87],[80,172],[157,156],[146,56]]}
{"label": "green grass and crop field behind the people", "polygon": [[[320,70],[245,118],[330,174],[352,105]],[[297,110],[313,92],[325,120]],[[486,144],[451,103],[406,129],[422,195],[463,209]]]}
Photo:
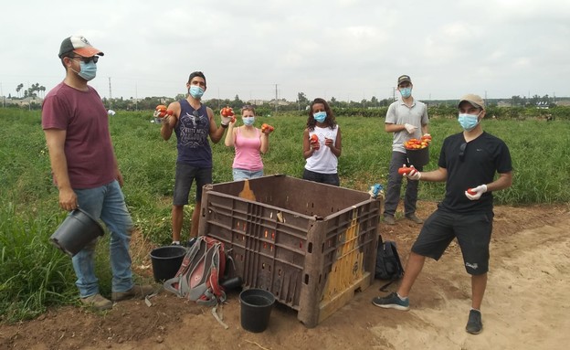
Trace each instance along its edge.
{"label": "green grass and crop field behind the people", "polygon": [[[52,185],[49,158],[39,111],[0,109],[0,321],[34,317],[49,305],[76,301],[75,275],[68,256],[48,243],[64,219],[58,208],[58,191]],[[165,142],[160,126],[150,122],[151,112],[119,111],[111,117],[111,135],[121,172],[127,205],[137,228],[156,244],[169,243],[170,210],[176,158],[175,137]],[[304,160],[301,136],[306,116],[300,113],[259,117],[260,125],[276,127],[269,153],[263,156],[265,174],[301,177]],[[386,183],[392,135],[384,131],[384,119],[340,117],[343,155],[339,159],[341,185],[367,191]],[[459,133],[454,118],[434,118],[433,143],[427,170],[435,169],[443,139]],[[483,128],[510,147],[514,183],[496,194],[496,203],[530,205],[570,202],[565,185],[570,180],[570,122],[483,121]],[[214,182],[231,181],[233,149],[212,144]],[[420,200],[437,201],[443,184],[422,183]],[[195,195],[195,188],[191,197]],[[185,207],[184,232],[190,227],[194,207]],[[108,238],[98,247],[97,275],[103,294],[111,292]]]}

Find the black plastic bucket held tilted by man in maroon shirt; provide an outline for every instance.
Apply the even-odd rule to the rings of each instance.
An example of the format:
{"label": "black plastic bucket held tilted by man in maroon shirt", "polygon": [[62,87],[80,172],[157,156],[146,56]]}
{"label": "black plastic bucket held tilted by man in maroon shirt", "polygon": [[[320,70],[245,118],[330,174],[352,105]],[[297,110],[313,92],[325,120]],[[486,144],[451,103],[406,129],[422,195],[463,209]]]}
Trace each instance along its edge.
{"label": "black plastic bucket held tilted by man in maroon shirt", "polygon": [[59,225],[49,241],[64,253],[73,257],[90,241],[103,236],[105,231],[95,217],[79,208],[71,211]]}

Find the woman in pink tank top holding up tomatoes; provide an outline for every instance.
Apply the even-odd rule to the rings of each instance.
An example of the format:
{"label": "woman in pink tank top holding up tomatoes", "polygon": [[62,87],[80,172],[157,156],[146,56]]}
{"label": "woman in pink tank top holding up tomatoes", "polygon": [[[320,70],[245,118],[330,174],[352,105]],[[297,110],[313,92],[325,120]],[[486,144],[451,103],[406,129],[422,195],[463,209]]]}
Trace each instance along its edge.
{"label": "woman in pink tank top holding up tomatoes", "polygon": [[242,126],[236,127],[235,122],[229,123],[226,133],[227,147],[236,149],[236,156],[232,164],[234,181],[263,176],[263,161],[261,154],[269,151],[269,133],[271,130],[261,131],[253,126],[255,122],[255,109],[244,106],[241,109]]}

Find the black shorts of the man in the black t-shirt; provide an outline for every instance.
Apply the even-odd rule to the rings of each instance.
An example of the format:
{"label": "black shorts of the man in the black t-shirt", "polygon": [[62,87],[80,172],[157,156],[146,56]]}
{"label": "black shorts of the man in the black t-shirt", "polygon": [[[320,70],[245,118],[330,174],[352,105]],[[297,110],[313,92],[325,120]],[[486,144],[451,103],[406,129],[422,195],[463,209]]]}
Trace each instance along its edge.
{"label": "black shorts of the man in the black t-shirt", "polygon": [[438,209],[424,223],[412,251],[439,260],[449,243],[457,238],[467,273],[486,273],[489,270],[492,218],[492,212],[453,214]]}

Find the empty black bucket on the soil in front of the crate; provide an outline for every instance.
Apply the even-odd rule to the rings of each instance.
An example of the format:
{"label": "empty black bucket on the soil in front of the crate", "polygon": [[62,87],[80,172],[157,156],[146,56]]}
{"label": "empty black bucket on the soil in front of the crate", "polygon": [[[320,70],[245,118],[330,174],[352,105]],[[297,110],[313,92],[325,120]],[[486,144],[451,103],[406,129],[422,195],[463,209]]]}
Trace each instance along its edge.
{"label": "empty black bucket on the soil in front of the crate", "polygon": [[265,331],[269,324],[269,315],[275,303],[271,292],[252,288],[239,293],[241,304],[241,327],[252,333]]}

